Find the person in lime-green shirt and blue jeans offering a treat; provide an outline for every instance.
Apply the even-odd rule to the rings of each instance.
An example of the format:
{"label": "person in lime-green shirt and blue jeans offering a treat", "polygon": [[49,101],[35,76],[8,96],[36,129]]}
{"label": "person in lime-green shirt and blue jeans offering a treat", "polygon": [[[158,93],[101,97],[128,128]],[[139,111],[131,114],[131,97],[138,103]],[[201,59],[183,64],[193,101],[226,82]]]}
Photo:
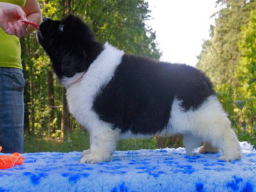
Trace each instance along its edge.
{"label": "person in lime-green shirt and blue jeans offering a treat", "polygon": [[36,0],[0,0],[0,146],[4,153],[23,152],[25,80],[19,38],[35,28],[22,20],[42,21]]}

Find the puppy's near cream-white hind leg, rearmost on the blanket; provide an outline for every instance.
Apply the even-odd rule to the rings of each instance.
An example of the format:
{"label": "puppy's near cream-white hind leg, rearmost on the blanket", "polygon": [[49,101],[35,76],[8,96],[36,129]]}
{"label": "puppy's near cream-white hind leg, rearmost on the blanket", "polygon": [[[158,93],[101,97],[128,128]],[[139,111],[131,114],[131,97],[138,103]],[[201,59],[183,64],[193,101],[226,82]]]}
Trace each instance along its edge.
{"label": "puppy's near cream-white hind leg, rearmost on the blanket", "polygon": [[216,97],[209,97],[196,111],[195,122],[198,126],[198,135],[212,147],[220,148],[223,156],[219,159],[234,161],[241,158],[240,143],[236,133],[232,130],[230,120]]}

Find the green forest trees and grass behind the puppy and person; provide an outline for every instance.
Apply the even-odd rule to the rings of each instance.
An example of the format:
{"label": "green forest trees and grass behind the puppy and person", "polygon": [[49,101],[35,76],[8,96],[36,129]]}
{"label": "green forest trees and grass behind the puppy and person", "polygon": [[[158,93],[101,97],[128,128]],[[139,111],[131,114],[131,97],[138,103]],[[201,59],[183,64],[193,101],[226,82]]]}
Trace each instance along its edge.
{"label": "green forest trees and grass behind the puppy and person", "polygon": [[[145,21],[150,19],[144,0],[38,0],[43,17],[61,19],[74,13],[91,26],[97,40],[108,41],[125,52],[159,59],[156,34]],[[240,140],[255,141],[256,3],[219,0],[220,12],[213,15],[211,39],[204,42],[197,67],[216,85]],[[188,16],[189,17],[189,16]],[[68,113],[65,90],[52,74],[51,63],[35,33],[21,39],[24,90],[24,152],[84,150],[88,132]],[[157,148],[155,138],[123,140],[118,150]]]}

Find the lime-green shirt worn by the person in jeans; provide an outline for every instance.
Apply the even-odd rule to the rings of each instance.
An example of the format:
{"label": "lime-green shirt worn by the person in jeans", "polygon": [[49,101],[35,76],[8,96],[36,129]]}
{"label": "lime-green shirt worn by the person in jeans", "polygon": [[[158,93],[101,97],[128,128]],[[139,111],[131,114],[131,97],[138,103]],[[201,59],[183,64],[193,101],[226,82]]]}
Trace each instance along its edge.
{"label": "lime-green shirt worn by the person in jeans", "polygon": [[[0,0],[3,3],[17,4],[23,7],[26,0]],[[15,35],[6,34],[0,28],[0,67],[14,67],[22,69],[20,40]]]}

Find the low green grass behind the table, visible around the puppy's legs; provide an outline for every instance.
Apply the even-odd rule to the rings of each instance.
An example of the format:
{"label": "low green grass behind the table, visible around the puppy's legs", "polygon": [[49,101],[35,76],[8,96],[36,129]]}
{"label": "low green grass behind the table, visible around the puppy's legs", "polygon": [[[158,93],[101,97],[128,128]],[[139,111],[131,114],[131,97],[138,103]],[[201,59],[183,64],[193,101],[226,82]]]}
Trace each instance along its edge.
{"label": "low green grass behind the table, visible around the puppy's legs", "polygon": [[[248,141],[252,145],[256,146],[255,136],[247,133],[238,132],[237,136],[239,141]],[[65,142],[60,142],[56,139],[47,140],[46,138],[38,137],[26,137],[24,139],[24,152],[71,152],[71,151],[83,151],[90,147],[90,136],[88,132],[83,129],[72,132],[70,137]],[[182,147],[180,145],[179,147]],[[120,140],[117,143],[116,150],[139,150],[155,149],[157,147],[157,141],[153,138],[147,139],[129,139]]]}

